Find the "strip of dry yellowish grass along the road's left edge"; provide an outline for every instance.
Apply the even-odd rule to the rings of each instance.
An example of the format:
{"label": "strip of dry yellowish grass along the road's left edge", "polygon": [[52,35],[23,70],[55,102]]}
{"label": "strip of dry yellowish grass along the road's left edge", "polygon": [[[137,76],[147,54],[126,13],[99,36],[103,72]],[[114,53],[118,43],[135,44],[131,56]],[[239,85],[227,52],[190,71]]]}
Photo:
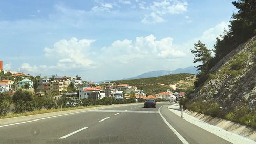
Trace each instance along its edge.
{"label": "strip of dry yellowish grass along the road's left edge", "polygon": [[[68,107],[68,108],[62,108],[62,111],[67,111],[67,110],[75,110],[75,109],[83,109],[83,108],[92,108],[92,107],[98,107],[102,105],[93,105],[93,106],[80,106],[80,107]],[[0,119],[4,118],[12,118],[12,117],[19,117],[19,116],[28,116],[28,115],[35,115],[35,114],[43,114],[43,113],[50,113],[50,112],[58,112],[61,111],[61,108],[57,109],[40,109],[40,110],[34,110],[34,111],[27,111],[24,113],[14,113],[10,112],[7,113],[5,116],[1,116]]]}

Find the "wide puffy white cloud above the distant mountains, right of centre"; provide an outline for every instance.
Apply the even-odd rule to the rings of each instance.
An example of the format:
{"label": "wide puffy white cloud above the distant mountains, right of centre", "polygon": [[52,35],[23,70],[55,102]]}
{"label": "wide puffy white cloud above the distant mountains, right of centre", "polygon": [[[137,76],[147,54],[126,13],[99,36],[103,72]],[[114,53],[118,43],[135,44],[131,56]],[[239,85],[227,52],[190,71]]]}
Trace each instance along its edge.
{"label": "wide puffy white cloud above the distant mountains, right of centre", "polygon": [[136,37],[136,40],[117,40],[111,46],[103,47],[103,56],[121,63],[128,63],[132,59],[171,59],[184,57],[185,53],[174,49],[172,46],[173,38],[166,37],[156,40],[154,35],[146,37]]}

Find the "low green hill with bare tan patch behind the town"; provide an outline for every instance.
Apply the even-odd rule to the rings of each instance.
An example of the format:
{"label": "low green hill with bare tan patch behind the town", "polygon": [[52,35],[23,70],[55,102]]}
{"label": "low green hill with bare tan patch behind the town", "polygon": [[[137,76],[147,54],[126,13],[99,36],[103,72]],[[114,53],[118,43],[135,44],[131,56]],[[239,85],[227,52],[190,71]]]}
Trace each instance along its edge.
{"label": "low green hill with bare tan patch behind the town", "polygon": [[173,74],[160,77],[141,78],[133,80],[119,80],[113,81],[116,84],[129,84],[137,86],[139,89],[143,89],[144,92],[154,95],[159,92],[164,92],[167,89],[172,91],[179,89],[190,89],[193,87],[195,81],[194,74]]}

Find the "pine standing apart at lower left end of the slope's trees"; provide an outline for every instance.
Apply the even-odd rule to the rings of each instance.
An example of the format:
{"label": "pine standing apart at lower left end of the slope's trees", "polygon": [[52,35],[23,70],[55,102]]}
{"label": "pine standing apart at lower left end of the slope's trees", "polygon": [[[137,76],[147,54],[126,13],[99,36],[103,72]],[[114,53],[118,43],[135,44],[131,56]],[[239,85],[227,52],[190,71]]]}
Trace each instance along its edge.
{"label": "pine standing apart at lower left end of the slope's trees", "polygon": [[198,43],[194,44],[194,49],[191,49],[191,53],[194,54],[193,63],[200,62],[198,66],[195,66],[199,73],[197,74],[197,81],[195,82],[195,87],[202,85],[205,80],[208,78],[209,71],[209,62],[211,61],[211,50],[207,49],[205,44],[203,44],[200,40]]}

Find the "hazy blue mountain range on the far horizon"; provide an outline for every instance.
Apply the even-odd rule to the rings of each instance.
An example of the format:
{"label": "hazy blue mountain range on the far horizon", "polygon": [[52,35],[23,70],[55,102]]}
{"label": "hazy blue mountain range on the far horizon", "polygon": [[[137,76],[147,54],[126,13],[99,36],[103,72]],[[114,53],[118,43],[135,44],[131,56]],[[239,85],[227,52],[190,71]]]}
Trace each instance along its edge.
{"label": "hazy blue mountain range on the far horizon", "polygon": [[[169,74],[180,74],[180,73],[189,73],[189,74],[197,74],[197,70],[194,66],[189,66],[187,68],[178,68],[176,70],[157,70],[157,71],[149,71],[146,73],[143,73],[141,75],[138,75],[136,77],[126,78],[122,80],[132,80],[132,79],[141,79],[141,78],[151,78],[151,77],[158,77],[158,76],[164,76]],[[99,81],[96,83],[102,83],[102,82],[110,82],[110,81],[116,81],[116,80],[104,80]]]}

